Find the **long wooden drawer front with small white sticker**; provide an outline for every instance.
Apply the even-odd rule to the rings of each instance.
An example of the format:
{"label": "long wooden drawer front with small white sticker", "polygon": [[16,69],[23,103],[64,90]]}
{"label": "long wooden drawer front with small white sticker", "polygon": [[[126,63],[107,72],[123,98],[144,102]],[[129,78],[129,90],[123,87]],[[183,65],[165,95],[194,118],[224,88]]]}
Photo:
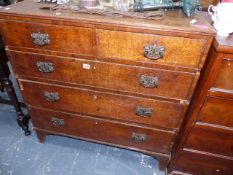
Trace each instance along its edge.
{"label": "long wooden drawer front with small white sticker", "polygon": [[[150,96],[189,99],[189,89],[194,79],[193,74],[160,69],[20,52],[8,52],[8,55],[17,76],[86,84]],[[44,70],[45,66],[48,70]]]}

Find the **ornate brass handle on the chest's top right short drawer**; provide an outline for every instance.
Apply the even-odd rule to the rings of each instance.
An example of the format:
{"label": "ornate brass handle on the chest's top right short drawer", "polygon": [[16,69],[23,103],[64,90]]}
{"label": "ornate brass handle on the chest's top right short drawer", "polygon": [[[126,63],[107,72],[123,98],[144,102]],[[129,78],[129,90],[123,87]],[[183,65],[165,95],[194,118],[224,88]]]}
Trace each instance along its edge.
{"label": "ornate brass handle on the chest's top right short drawer", "polygon": [[144,46],[144,56],[151,60],[162,59],[164,56],[164,51],[164,46],[159,46],[157,44]]}

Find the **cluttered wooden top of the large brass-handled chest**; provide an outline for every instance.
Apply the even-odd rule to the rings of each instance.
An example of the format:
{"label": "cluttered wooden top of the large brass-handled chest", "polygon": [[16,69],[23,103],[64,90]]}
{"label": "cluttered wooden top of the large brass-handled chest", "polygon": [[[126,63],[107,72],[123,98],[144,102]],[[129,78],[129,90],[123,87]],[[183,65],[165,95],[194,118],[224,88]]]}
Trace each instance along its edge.
{"label": "cluttered wooden top of the large brass-handled chest", "polygon": [[[50,22],[50,20],[70,21],[70,22],[88,22],[92,24],[113,24],[114,26],[129,26],[140,27],[152,30],[165,30],[173,32],[188,32],[188,33],[204,33],[213,35],[214,30],[209,22],[203,18],[203,12],[200,12],[192,18],[186,17],[182,10],[173,10],[165,13],[161,20],[136,19],[109,17],[91,14],[80,14],[72,11],[62,11],[60,15],[56,15],[56,10],[42,10],[44,3],[36,3],[32,0],[25,0],[17,4],[8,6],[7,9],[0,9],[0,18],[35,21],[35,19],[43,19],[37,22]],[[48,4],[46,5],[48,6]],[[192,19],[197,20],[195,24],[191,24]]]}

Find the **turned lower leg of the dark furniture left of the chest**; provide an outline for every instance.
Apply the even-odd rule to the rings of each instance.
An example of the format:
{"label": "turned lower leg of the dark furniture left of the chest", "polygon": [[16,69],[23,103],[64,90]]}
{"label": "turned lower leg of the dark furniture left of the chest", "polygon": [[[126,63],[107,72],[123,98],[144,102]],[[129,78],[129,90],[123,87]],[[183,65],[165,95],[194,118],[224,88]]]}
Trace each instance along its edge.
{"label": "turned lower leg of the dark furniture left of the chest", "polygon": [[7,94],[9,95],[14,108],[16,110],[16,114],[17,114],[17,123],[18,125],[22,128],[22,130],[24,131],[24,134],[26,136],[30,135],[31,132],[29,131],[28,128],[28,122],[30,117],[29,116],[25,116],[20,108],[14,87],[12,86],[12,82],[11,80],[9,80],[9,78],[5,77],[3,78],[3,87],[6,89]]}

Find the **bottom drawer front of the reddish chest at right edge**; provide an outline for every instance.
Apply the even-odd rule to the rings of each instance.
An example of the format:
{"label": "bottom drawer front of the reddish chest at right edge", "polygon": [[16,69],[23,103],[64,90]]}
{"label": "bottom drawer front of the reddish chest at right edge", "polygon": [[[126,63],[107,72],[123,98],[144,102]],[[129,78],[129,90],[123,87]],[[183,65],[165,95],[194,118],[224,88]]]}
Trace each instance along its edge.
{"label": "bottom drawer front of the reddish chest at right edge", "polygon": [[232,175],[233,160],[183,151],[175,169],[193,175]]}

